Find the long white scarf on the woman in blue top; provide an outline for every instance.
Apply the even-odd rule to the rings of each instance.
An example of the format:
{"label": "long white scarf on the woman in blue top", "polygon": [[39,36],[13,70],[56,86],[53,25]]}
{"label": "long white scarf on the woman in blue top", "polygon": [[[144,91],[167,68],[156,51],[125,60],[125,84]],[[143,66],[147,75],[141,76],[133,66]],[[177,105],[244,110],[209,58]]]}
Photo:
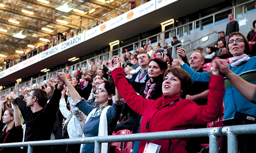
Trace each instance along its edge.
{"label": "long white scarf on the woman in blue top", "polygon": [[[98,136],[107,136],[107,110],[112,107],[108,105],[105,107],[101,114],[100,114],[100,124],[99,124],[99,131],[98,131]],[[96,111],[97,108],[94,108],[88,115],[86,122],[89,120],[89,118],[92,116],[93,112]],[[107,143],[101,143],[101,153],[107,153]]]}

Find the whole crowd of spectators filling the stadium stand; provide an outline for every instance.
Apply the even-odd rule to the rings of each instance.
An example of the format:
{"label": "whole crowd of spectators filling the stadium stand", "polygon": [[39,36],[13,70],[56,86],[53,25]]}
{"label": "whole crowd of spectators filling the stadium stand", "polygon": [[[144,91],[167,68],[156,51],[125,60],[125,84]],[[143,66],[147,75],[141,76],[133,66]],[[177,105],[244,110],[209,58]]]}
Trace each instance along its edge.
{"label": "whole crowd of spectators filling the stadium stand", "polygon": [[[66,66],[66,72],[57,72],[56,79],[40,87],[2,95],[0,143],[21,142],[22,127],[24,141],[39,141],[107,136],[121,129],[147,133],[206,128],[207,122],[223,114],[224,126],[255,124],[250,119],[256,118],[256,21],[246,38],[239,33],[233,15],[228,17],[229,35],[219,32],[217,48],[207,46],[204,53],[199,46],[189,59],[177,37],[171,39],[171,50],[166,42],[161,47],[161,39],[153,50],[149,40],[149,45],[134,53],[126,49],[122,57],[113,56],[106,62],[87,60],[87,68],[74,72]],[[171,51],[178,59],[173,60]],[[204,71],[207,62],[212,71]],[[254,152],[254,136],[238,136],[240,153]],[[151,143],[161,146],[160,153],[197,153],[207,141],[135,141],[133,153],[143,153]],[[0,148],[0,152],[7,151],[19,153],[21,149]],[[107,151],[109,144],[102,143],[101,152]],[[33,152],[93,153],[94,143],[34,146]],[[220,152],[227,153],[226,136],[222,136]]]}

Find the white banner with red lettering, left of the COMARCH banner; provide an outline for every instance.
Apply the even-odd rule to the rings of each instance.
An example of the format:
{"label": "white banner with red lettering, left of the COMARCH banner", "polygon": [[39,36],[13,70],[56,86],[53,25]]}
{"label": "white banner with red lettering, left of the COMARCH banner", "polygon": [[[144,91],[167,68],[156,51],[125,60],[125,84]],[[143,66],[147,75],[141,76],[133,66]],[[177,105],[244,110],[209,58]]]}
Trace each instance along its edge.
{"label": "white banner with red lettering, left of the COMARCH banner", "polygon": [[6,69],[6,76],[37,63],[38,56],[39,55],[35,55],[33,57],[30,57],[27,60],[24,60],[23,62],[18,63],[17,65],[13,65],[12,67],[9,67],[8,69]]}

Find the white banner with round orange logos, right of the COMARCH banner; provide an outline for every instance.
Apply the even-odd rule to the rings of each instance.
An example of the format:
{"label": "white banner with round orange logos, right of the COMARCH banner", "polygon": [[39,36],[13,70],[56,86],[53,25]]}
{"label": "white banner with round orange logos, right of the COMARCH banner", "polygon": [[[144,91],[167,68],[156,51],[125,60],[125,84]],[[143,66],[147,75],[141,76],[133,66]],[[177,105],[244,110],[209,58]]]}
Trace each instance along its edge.
{"label": "white banner with round orange logos, right of the COMARCH banner", "polygon": [[125,12],[124,14],[115,17],[114,19],[111,19],[98,26],[95,26],[94,28],[88,31],[85,31],[85,41],[93,37],[96,37],[102,33],[115,29],[116,27],[126,24],[134,19],[142,17],[145,14],[153,12],[155,9],[156,1],[151,0],[149,2],[146,2],[145,4],[140,5],[139,7],[136,7],[128,12]]}

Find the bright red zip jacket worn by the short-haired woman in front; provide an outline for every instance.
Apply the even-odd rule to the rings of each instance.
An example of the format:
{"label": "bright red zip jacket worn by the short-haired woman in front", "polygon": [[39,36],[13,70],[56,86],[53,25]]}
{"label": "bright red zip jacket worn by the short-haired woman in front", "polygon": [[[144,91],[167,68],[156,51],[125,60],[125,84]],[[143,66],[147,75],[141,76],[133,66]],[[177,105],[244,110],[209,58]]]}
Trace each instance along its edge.
{"label": "bright red zip jacket worn by the short-haired woman in front", "polygon": [[[123,68],[116,68],[111,74],[117,90],[124,98],[124,101],[135,112],[143,115],[141,133],[146,133],[145,127],[148,120],[150,120],[149,132],[172,131],[190,129],[193,128],[194,124],[206,124],[215,120],[222,113],[225,88],[224,79],[221,76],[211,75],[207,105],[198,106],[192,100],[182,99],[172,105],[161,108],[180,97],[163,95],[156,100],[146,100],[142,96],[137,95],[132,86],[128,84],[123,71]],[[161,109],[156,111],[153,117],[149,119],[149,116],[151,116],[150,113],[154,112],[156,108]],[[160,153],[186,153],[184,148],[188,139],[156,140],[149,142],[160,145]],[[140,141],[139,153],[143,153],[145,145],[146,141]]]}

